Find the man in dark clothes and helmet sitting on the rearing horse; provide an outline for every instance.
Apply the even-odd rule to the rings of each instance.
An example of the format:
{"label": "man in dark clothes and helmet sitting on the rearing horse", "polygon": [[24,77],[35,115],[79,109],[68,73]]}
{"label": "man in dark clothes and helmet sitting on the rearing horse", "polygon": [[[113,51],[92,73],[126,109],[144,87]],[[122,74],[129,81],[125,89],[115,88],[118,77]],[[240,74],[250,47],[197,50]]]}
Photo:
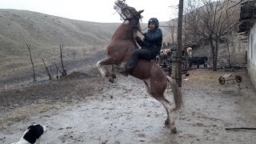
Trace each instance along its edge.
{"label": "man in dark clothes and helmet sitting on the rearing horse", "polygon": [[150,18],[148,28],[149,30],[143,34],[143,40],[140,37],[136,38],[138,45],[142,48],[134,50],[125,68],[120,70],[121,74],[128,75],[138,63],[138,58],[150,61],[159,54],[162,46],[162,30],[159,28],[158,19]]}

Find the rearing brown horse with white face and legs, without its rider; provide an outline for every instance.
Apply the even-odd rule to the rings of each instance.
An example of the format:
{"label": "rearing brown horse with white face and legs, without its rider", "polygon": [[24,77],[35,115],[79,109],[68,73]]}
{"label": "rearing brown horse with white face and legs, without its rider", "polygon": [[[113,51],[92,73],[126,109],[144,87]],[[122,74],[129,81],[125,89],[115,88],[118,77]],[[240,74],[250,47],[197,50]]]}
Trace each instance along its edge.
{"label": "rearing brown horse with white face and legs, without its rider", "polygon": [[[139,20],[144,10],[137,11],[133,7],[127,6],[123,1],[114,2],[114,9],[125,21],[115,31],[110,45],[106,48],[107,58],[97,62],[97,67],[103,78],[109,78],[110,82],[114,82],[115,75],[110,74],[103,65],[116,65],[123,68],[135,49],[138,48],[135,38],[138,36],[140,29]],[[182,106],[182,93],[172,79],[166,76],[161,67],[151,61],[140,59],[137,66],[130,75],[141,79],[146,84],[146,91],[153,96],[158,102],[165,106],[167,118],[165,124],[170,126],[170,130],[176,133],[176,127],[172,122],[170,113],[178,110]],[[170,82],[174,94],[174,103],[171,104],[165,97],[167,82]]]}

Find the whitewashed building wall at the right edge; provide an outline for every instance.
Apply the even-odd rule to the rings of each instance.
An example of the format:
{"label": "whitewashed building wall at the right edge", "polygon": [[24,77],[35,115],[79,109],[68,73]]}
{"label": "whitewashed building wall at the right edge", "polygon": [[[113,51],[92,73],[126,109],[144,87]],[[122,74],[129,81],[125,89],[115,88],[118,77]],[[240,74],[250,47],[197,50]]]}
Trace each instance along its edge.
{"label": "whitewashed building wall at the right edge", "polygon": [[256,88],[256,22],[248,33],[247,70]]}

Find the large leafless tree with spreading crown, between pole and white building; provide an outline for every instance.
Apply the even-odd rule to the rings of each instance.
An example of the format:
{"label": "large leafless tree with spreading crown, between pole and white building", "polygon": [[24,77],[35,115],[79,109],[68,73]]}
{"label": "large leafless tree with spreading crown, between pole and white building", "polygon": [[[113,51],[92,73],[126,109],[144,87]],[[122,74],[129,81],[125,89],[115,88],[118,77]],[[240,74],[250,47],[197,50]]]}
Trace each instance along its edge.
{"label": "large leafless tree with spreading crown, between pole and white building", "polygon": [[[229,0],[190,0],[187,3],[186,32],[195,39],[210,41],[213,70],[217,70],[218,42],[238,24],[239,11]],[[229,9],[229,10],[228,10]]]}

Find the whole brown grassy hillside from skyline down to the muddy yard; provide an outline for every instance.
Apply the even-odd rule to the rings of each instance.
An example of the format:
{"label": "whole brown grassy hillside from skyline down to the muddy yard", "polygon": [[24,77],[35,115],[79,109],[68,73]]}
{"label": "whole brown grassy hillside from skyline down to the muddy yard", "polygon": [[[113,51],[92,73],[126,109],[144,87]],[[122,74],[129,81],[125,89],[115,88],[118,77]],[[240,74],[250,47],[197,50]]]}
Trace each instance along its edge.
{"label": "whole brown grassy hillside from skyline down to the muddy yard", "polygon": [[[56,73],[54,61],[60,62],[60,42],[64,44],[66,69],[69,72],[86,69],[106,57],[106,45],[119,25],[84,22],[27,10],[0,10],[0,89],[33,78],[26,43],[31,46],[36,77],[41,79],[46,78],[42,58],[52,73]],[[141,26],[146,32],[146,22]],[[165,41],[167,30],[162,27],[162,31]]]}

